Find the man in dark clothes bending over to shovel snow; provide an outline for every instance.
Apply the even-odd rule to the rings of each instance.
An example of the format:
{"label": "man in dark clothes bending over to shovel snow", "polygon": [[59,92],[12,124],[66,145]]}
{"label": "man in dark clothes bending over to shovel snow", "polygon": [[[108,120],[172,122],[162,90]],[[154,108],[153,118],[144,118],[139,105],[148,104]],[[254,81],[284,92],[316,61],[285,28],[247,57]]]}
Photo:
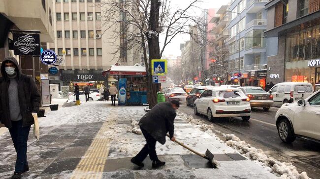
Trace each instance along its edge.
{"label": "man in dark clothes bending over to shovel snow", "polygon": [[173,122],[177,115],[176,110],[178,108],[179,102],[176,100],[172,100],[171,102],[160,102],[140,119],[139,126],[143,136],[146,138],[147,144],[137,155],[135,155],[135,157],[131,158],[132,163],[143,167],[143,160],[149,154],[153,167],[165,164],[165,162],[160,161],[157,156],[156,142],[158,141],[163,145],[167,132],[169,132],[170,140],[176,140],[173,135]]}

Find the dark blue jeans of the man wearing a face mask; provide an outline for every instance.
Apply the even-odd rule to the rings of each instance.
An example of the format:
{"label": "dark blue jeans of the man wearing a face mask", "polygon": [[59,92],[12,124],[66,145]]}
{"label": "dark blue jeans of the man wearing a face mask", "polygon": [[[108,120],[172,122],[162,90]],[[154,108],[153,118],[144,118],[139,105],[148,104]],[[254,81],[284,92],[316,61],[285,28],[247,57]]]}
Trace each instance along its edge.
{"label": "dark blue jeans of the man wearing a face mask", "polygon": [[14,148],[17,152],[17,160],[14,173],[24,171],[25,165],[28,165],[27,160],[27,141],[30,131],[30,126],[22,127],[22,120],[11,121],[12,128],[9,128],[11,139],[13,141]]}

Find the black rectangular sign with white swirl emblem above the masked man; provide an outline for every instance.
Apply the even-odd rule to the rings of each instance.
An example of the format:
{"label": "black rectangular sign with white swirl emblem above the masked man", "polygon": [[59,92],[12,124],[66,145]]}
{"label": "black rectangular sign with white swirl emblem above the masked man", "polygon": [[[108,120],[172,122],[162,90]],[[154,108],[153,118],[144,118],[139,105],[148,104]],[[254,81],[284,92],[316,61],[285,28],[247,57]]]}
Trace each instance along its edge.
{"label": "black rectangular sign with white swirl emblem above the masked man", "polygon": [[40,55],[40,35],[13,33],[15,55]]}

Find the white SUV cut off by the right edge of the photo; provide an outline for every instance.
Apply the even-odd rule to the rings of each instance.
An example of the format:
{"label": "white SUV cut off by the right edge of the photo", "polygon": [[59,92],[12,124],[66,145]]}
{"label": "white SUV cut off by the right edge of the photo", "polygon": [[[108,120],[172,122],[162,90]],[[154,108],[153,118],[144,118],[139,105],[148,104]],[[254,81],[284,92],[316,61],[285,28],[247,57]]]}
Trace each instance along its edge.
{"label": "white SUV cut off by the right edge of the photo", "polygon": [[291,143],[296,137],[320,142],[320,91],[305,100],[283,104],[276,113],[279,137]]}

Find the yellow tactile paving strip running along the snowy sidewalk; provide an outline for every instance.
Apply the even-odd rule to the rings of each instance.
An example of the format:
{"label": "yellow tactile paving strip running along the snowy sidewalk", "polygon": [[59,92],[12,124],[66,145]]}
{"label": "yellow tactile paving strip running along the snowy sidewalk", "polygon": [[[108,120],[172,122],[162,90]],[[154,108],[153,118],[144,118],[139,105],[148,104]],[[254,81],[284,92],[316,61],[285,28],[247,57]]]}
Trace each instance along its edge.
{"label": "yellow tactile paving strip running along the snowy sidewalk", "polygon": [[112,136],[106,136],[105,132],[112,130],[118,119],[118,111],[113,110],[113,114],[108,116],[108,121],[104,122],[90,147],[76,166],[70,179],[101,179],[104,166],[109,154]]}

